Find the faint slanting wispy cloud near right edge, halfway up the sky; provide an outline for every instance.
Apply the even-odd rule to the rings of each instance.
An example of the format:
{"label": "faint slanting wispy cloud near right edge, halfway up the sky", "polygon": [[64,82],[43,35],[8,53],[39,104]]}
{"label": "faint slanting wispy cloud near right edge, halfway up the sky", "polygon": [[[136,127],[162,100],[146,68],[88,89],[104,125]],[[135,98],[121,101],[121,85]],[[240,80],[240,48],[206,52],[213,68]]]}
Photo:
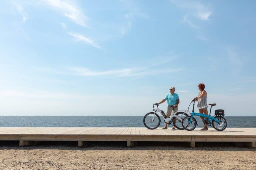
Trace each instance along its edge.
{"label": "faint slanting wispy cloud near right edge, halfway up the sky", "polygon": [[231,48],[227,48],[227,55],[230,61],[231,67],[233,68],[233,72],[238,74],[242,71],[243,62],[239,58],[238,54],[234,52]]}

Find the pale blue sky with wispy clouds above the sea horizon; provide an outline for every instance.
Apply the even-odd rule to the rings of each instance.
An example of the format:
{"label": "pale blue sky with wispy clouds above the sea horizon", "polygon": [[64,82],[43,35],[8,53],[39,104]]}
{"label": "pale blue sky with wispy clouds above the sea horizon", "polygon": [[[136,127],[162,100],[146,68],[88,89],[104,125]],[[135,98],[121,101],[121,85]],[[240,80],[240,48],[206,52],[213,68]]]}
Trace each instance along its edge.
{"label": "pale blue sky with wispy clouds above the sea horizon", "polygon": [[254,116],[255,7],[0,1],[0,115],[142,116],[170,86],[185,110],[205,83],[215,109]]}

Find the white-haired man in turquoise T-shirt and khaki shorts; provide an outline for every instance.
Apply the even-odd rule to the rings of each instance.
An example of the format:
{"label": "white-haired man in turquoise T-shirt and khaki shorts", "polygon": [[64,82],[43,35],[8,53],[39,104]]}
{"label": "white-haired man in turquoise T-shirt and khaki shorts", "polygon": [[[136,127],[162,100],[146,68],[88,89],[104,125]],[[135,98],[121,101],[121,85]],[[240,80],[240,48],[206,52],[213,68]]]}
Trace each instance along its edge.
{"label": "white-haired man in turquoise T-shirt and khaki shorts", "polygon": [[[157,103],[158,105],[161,103],[164,103],[167,100],[168,103],[168,108],[167,108],[167,113],[166,113],[166,117],[169,118],[172,111],[175,113],[178,110],[178,105],[180,103],[180,99],[178,94],[174,93],[175,92],[175,87],[170,87],[170,93],[168,93],[165,96],[165,99],[163,99],[161,102]],[[173,107],[171,107],[173,106]],[[167,129],[167,123],[165,123],[165,126],[163,127],[163,129]],[[172,127],[172,129],[175,129],[175,126]]]}

